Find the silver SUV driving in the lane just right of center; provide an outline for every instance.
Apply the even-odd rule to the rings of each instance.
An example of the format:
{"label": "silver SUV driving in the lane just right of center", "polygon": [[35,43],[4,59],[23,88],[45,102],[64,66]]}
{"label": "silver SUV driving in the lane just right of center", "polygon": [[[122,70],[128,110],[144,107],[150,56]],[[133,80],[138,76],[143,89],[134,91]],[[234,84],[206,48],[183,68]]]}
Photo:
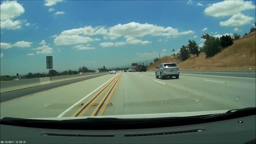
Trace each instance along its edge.
{"label": "silver SUV driving in the lane just right of center", "polygon": [[179,67],[175,63],[162,63],[159,67],[156,67],[156,78],[160,76],[160,79],[167,76],[175,76],[175,78],[179,78],[180,70]]}

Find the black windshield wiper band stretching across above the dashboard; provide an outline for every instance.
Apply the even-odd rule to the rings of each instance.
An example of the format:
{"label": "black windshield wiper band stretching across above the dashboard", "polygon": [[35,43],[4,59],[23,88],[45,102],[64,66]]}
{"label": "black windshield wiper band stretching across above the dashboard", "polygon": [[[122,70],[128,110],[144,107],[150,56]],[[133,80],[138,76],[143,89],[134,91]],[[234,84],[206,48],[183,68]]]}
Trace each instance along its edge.
{"label": "black windshield wiper band stretching across above the dashboard", "polygon": [[228,120],[251,115],[256,115],[256,107],[228,110],[225,113],[219,114],[166,118],[85,118],[73,120],[35,120],[6,117],[0,120],[0,124],[70,130],[113,130],[181,126]]}

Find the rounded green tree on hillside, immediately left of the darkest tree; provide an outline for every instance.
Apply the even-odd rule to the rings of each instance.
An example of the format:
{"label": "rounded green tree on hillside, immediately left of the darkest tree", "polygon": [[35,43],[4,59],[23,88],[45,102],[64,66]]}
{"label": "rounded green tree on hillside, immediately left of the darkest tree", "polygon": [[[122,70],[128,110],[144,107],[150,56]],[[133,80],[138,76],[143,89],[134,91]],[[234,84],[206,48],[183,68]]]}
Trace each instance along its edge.
{"label": "rounded green tree on hillside, immediately left of the darkest tree", "polygon": [[212,57],[215,54],[218,54],[221,51],[220,48],[220,39],[210,37],[204,42],[204,50],[206,57]]}

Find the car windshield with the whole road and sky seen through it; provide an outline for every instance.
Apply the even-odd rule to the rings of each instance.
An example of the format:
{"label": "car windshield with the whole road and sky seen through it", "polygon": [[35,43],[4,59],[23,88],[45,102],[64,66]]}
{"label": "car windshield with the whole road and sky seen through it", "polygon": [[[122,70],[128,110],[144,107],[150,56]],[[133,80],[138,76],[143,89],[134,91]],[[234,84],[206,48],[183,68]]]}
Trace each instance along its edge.
{"label": "car windshield with the whole road and sky seen through it", "polygon": [[0,4],[0,118],[256,106],[255,0]]}

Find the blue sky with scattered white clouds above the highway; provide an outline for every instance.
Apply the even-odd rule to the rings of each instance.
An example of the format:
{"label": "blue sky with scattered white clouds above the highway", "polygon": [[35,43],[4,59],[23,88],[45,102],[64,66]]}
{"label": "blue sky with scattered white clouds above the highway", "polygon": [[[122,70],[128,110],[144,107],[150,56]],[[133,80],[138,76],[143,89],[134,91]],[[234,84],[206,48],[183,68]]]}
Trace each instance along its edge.
{"label": "blue sky with scattered white clouds above the highway", "polygon": [[95,70],[148,64],[179,52],[204,33],[244,34],[256,21],[255,0],[0,1],[1,75],[53,69]]}

